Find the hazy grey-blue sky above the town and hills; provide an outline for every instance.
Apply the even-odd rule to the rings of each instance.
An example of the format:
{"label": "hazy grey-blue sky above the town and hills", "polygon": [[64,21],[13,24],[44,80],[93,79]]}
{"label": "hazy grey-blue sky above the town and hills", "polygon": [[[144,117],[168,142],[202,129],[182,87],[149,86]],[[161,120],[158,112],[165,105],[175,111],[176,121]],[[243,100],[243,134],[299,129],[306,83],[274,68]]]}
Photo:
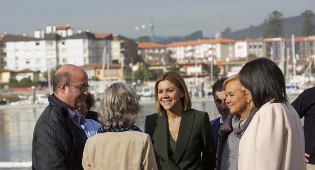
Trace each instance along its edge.
{"label": "hazy grey-blue sky above the town and hills", "polygon": [[[305,10],[315,13],[315,0],[1,0],[0,33],[33,36],[47,25],[90,29],[129,38],[188,35],[202,30],[207,37],[262,24],[274,10],[286,17]],[[147,28],[135,30],[136,26]]]}

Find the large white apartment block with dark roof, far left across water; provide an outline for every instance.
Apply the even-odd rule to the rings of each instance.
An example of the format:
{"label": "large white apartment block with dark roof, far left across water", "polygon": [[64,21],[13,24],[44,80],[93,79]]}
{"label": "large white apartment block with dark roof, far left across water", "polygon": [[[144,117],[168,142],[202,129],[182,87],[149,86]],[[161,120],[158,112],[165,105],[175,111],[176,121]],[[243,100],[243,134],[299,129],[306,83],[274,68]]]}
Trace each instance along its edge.
{"label": "large white apartment block with dark roof, far left across water", "polygon": [[[58,64],[78,66],[100,62],[104,48],[111,54],[112,34],[94,34],[89,31],[72,34],[68,26],[47,26],[49,33],[35,30],[35,36],[5,35],[5,59],[7,70],[31,69],[43,73]],[[111,61],[111,60],[110,60]]]}

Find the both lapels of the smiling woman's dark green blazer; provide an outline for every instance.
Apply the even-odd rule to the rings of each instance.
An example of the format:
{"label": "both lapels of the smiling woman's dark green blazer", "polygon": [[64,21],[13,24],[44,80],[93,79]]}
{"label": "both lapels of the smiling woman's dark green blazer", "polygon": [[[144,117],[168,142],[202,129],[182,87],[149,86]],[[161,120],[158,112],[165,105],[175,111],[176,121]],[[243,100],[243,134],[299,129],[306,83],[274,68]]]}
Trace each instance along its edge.
{"label": "both lapels of the smiling woman's dark green blazer", "polygon": [[[182,114],[180,126],[179,126],[179,132],[178,137],[176,141],[176,148],[173,155],[175,163],[178,163],[180,158],[182,157],[187,144],[189,142],[190,134],[192,131],[192,126],[194,122],[194,114],[193,109],[189,109],[187,111],[184,111]],[[158,150],[160,150],[160,154],[162,157],[167,158],[168,152],[167,152],[167,144],[169,141],[167,141],[167,134],[168,134],[168,125],[167,125],[167,116],[166,111],[164,111],[163,115],[158,117],[157,120],[157,137],[159,137],[160,144],[158,145]]]}

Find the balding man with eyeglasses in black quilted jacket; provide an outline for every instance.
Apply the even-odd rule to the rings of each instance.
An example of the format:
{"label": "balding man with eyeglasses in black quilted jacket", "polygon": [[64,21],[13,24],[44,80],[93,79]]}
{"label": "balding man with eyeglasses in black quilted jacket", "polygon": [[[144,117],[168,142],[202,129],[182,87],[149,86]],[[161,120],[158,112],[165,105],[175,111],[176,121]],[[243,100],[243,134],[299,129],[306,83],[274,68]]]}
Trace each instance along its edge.
{"label": "balding man with eyeglasses in black quilted jacket", "polygon": [[53,77],[54,93],[39,116],[33,133],[33,170],[83,170],[82,155],[87,140],[81,129],[82,107],[89,94],[87,73],[72,64],[60,67]]}

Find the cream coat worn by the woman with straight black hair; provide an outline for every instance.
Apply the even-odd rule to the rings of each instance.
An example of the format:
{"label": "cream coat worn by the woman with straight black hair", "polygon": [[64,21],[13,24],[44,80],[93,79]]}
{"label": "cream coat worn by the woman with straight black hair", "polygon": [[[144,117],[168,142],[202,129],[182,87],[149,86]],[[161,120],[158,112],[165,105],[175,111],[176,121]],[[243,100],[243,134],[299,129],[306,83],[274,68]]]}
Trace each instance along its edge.
{"label": "cream coat worn by the woman with straight black hair", "polygon": [[239,170],[306,170],[304,131],[287,103],[266,103],[256,112],[239,146]]}

